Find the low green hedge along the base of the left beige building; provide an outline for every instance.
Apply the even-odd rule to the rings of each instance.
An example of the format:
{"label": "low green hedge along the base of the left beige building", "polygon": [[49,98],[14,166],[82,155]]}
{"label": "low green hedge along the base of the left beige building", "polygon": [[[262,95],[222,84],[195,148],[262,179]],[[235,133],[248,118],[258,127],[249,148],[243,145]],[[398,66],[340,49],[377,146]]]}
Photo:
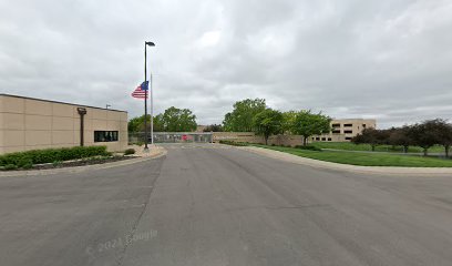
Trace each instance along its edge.
{"label": "low green hedge along the base of the left beige building", "polygon": [[68,161],[92,156],[111,155],[106,146],[74,146],[61,149],[32,150],[0,155],[0,166],[16,165],[27,167],[30,164],[52,163],[55,161]]}

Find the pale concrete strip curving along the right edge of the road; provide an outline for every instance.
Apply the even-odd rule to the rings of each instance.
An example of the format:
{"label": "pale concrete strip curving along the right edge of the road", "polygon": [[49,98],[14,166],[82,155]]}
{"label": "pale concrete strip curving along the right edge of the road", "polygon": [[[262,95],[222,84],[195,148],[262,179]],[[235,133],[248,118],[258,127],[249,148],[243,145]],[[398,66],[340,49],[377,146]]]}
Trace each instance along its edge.
{"label": "pale concrete strip curving along the right edge of the road", "polygon": [[245,150],[248,152],[257,153],[267,157],[273,157],[277,160],[281,160],[285,162],[296,163],[296,164],[304,164],[309,165],[316,168],[330,168],[330,170],[339,170],[339,171],[347,171],[353,173],[366,173],[366,174],[389,174],[389,175],[422,175],[422,176],[433,176],[433,175],[451,175],[452,176],[452,167],[399,167],[399,166],[359,166],[359,165],[350,165],[350,164],[339,164],[339,163],[331,163],[325,162],[314,158],[307,158],[297,156],[289,153],[278,152],[269,149],[264,147],[255,147],[255,146],[243,146],[237,147],[240,150]]}

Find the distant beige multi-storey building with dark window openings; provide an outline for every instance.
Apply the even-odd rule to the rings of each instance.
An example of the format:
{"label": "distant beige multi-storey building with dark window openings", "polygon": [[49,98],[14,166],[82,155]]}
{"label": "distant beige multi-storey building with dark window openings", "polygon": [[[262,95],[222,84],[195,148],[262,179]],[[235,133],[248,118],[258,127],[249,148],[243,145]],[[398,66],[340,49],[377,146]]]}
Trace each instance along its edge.
{"label": "distant beige multi-storey building with dark window openings", "polygon": [[364,129],[377,127],[376,120],[346,119],[332,120],[331,131],[328,134],[311,137],[312,142],[349,142]]}

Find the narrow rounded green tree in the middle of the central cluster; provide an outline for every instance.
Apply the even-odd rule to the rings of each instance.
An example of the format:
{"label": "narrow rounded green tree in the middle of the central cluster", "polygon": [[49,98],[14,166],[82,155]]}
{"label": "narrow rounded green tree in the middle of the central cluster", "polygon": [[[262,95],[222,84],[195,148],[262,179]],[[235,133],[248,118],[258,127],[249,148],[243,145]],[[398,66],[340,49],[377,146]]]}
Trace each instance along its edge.
{"label": "narrow rounded green tree in the middle of the central cluster", "polygon": [[266,109],[253,119],[253,127],[256,134],[264,135],[267,145],[270,135],[282,132],[282,113],[277,110]]}

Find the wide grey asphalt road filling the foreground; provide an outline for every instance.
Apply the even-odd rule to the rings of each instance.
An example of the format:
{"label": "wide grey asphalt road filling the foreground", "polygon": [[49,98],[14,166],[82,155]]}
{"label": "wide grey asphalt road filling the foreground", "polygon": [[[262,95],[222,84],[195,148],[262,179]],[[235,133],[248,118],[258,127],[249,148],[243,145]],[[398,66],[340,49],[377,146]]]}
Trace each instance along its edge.
{"label": "wide grey asphalt road filling the foreground", "polygon": [[452,265],[452,176],[317,170],[237,149],[0,178],[0,265]]}

